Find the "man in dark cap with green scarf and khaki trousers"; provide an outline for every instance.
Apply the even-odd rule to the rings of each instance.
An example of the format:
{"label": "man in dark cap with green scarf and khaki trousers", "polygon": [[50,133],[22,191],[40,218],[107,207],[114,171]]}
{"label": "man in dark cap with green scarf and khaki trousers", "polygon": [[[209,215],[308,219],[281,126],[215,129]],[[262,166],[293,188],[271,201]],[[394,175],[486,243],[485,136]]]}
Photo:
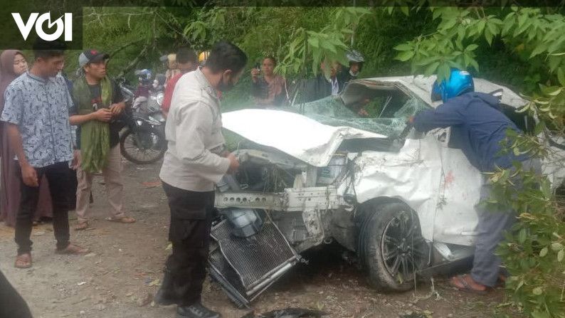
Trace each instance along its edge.
{"label": "man in dark cap with green scarf and khaki trousers", "polygon": [[120,153],[120,129],[117,117],[124,111],[125,102],[118,85],[106,75],[106,53],[88,50],[80,53],[78,64],[83,76],[73,83],[75,109],[70,124],[78,125],[77,168],[78,223],[75,230],[88,228],[88,203],[94,174],[102,171],[112,216],[107,221],[133,223],[134,218],[125,216],[122,210],[122,155]]}

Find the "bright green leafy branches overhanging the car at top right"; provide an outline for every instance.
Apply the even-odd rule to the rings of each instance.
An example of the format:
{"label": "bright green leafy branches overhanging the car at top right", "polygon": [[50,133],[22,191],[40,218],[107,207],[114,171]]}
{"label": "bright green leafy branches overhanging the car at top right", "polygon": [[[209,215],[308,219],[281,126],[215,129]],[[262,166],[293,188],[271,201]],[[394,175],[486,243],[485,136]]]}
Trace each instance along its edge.
{"label": "bright green leafy branches overhanging the car at top right", "polygon": [[[492,46],[497,39],[513,47],[528,60],[544,60],[540,80],[554,80],[551,74],[565,69],[565,20],[561,14],[543,14],[542,9],[481,7],[431,7],[436,31],[407,41],[396,50],[398,60],[411,61],[414,73],[438,73],[447,78],[450,67],[479,71],[475,50]],[[538,77],[542,74],[537,73]]]}

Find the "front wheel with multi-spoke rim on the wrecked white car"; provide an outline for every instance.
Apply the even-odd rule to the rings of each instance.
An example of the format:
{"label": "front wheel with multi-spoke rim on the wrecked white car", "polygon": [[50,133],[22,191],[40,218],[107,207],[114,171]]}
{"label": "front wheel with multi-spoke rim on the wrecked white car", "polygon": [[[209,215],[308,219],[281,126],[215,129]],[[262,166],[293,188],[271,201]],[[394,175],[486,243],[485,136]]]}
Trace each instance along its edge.
{"label": "front wheel with multi-spoke rim on the wrecked white car", "polygon": [[404,203],[369,202],[361,206],[361,213],[358,253],[369,283],[380,291],[410,290],[430,251],[418,215]]}

